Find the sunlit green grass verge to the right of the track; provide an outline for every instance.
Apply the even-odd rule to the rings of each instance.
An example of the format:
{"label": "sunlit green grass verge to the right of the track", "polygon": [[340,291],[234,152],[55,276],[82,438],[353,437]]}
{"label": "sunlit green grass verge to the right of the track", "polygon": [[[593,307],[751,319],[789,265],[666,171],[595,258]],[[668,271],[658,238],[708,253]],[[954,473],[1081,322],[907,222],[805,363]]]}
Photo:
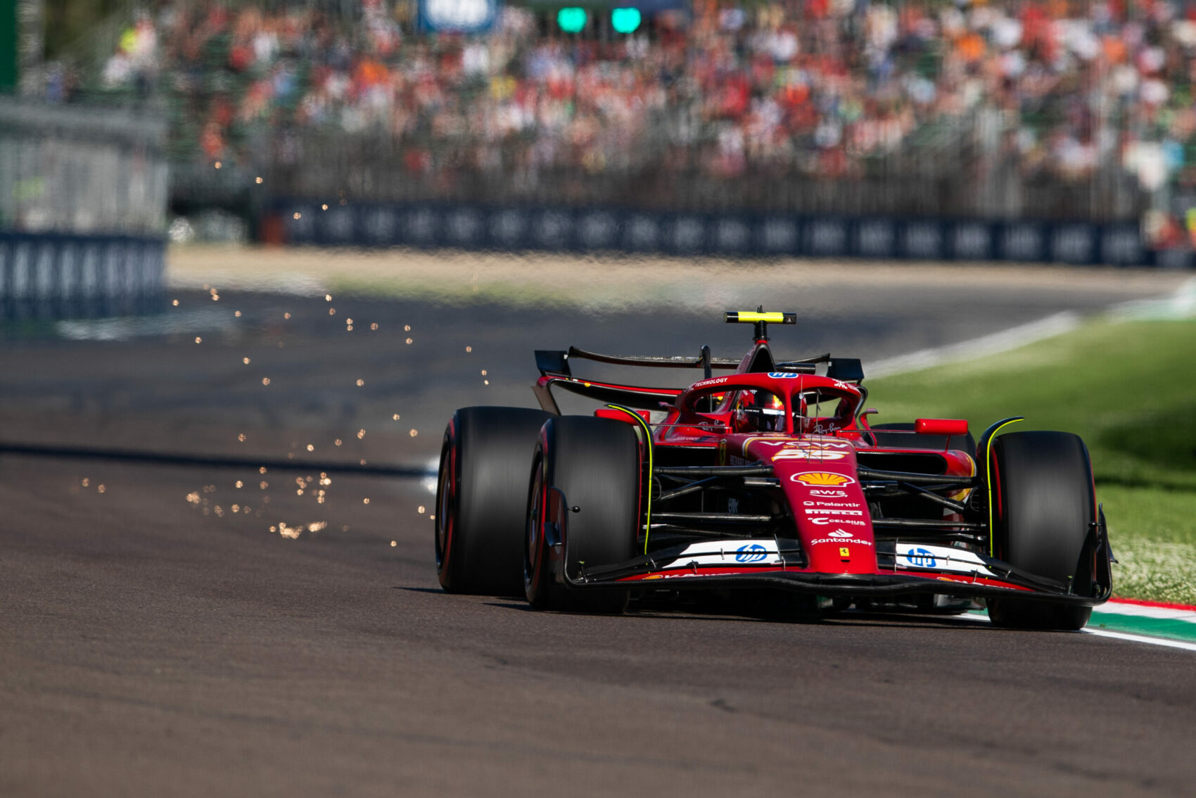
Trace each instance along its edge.
{"label": "sunlit green grass verge to the right of the track", "polygon": [[976,437],[1063,430],[1088,444],[1118,596],[1196,603],[1196,322],[1093,321],[1000,355],[866,384],[874,422],[968,419]]}

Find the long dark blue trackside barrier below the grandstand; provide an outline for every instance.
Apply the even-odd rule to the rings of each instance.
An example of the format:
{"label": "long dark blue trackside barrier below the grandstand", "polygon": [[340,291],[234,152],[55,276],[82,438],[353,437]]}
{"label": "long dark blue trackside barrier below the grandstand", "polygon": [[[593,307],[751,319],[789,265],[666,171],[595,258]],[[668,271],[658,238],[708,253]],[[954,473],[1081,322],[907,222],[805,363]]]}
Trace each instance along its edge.
{"label": "long dark blue trackside barrier below the grandstand", "polygon": [[279,200],[283,238],[325,246],[866,257],[1190,268],[1149,250],[1136,223],[1088,224]]}

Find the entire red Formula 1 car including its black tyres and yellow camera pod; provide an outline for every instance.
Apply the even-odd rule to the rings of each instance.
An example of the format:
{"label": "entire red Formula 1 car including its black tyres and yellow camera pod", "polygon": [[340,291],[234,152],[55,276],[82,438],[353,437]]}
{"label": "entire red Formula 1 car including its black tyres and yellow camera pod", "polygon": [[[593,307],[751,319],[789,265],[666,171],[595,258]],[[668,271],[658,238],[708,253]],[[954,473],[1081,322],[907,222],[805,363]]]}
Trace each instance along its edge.
{"label": "entire red Formula 1 car including its black tyres and yellow camera pod", "polygon": [[[868,424],[858,359],[537,352],[541,410],[470,407],[445,432],[435,554],[452,592],[622,611],[704,596],[803,611],[960,611],[1078,629],[1112,590],[1088,452],[1066,432]],[[687,389],[573,376],[579,359],[704,370]],[[731,371],[713,377],[713,370]],[[561,415],[553,389],[603,403]],[[698,592],[694,592],[698,591]]]}

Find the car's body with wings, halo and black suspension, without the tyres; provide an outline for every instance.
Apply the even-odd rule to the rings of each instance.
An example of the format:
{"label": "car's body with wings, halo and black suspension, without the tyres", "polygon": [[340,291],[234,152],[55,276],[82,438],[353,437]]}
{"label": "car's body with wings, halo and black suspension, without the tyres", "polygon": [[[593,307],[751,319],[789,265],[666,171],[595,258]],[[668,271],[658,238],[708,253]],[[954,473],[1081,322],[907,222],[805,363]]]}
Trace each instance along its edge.
{"label": "car's body with wings, halo and black suspension, without the tyres", "polygon": [[[957,419],[872,428],[858,360],[776,363],[762,336],[740,361],[714,360],[704,347],[698,360],[574,348],[536,355],[543,409],[560,413],[550,389],[562,388],[605,402],[596,414],[631,425],[641,440],[640,554],[600,567],[570,562],[562,510],[548,558],[554,579],[570,587],[667,580],[670,589],[776,587],[856,605],[919,595],[1096,604],[1111,590],[1103,514],[1090,534],[1100,550],[1096,595],[994,556],[983,465],[991,437],[1015,419],[989,427],[978,445]],[[642,388],[576,378],[569,358],[733,373],[685,389]],[[816,364],[826,364],[824,374]]]}

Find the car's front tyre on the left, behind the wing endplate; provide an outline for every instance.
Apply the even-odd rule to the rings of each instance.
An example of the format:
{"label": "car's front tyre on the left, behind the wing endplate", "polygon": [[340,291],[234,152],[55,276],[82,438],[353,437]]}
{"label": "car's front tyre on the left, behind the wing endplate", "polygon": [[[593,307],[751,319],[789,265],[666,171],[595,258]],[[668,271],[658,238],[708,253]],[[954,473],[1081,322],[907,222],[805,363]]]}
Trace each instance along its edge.
{"label": "car's front tyre on the left, behind the wing endplate", "polygon": [[[560,491],[563,524],[547,525]],[[626,590],[570,590],[555,580],[550,547],[563,537],[563,562],[576,579],[582,568],[635,555],[640,499],[640,445],[630,425],[570,415],[550,419],[532,456],[524,537],[524,593],[538,609],[622,613]],[[560,506],[560,504],[557,505]],[[572,508],[576,508],[574,512]],[[560,530],[563,526],[563,530]],[[561,534],[563,531],[563,535]]]}

